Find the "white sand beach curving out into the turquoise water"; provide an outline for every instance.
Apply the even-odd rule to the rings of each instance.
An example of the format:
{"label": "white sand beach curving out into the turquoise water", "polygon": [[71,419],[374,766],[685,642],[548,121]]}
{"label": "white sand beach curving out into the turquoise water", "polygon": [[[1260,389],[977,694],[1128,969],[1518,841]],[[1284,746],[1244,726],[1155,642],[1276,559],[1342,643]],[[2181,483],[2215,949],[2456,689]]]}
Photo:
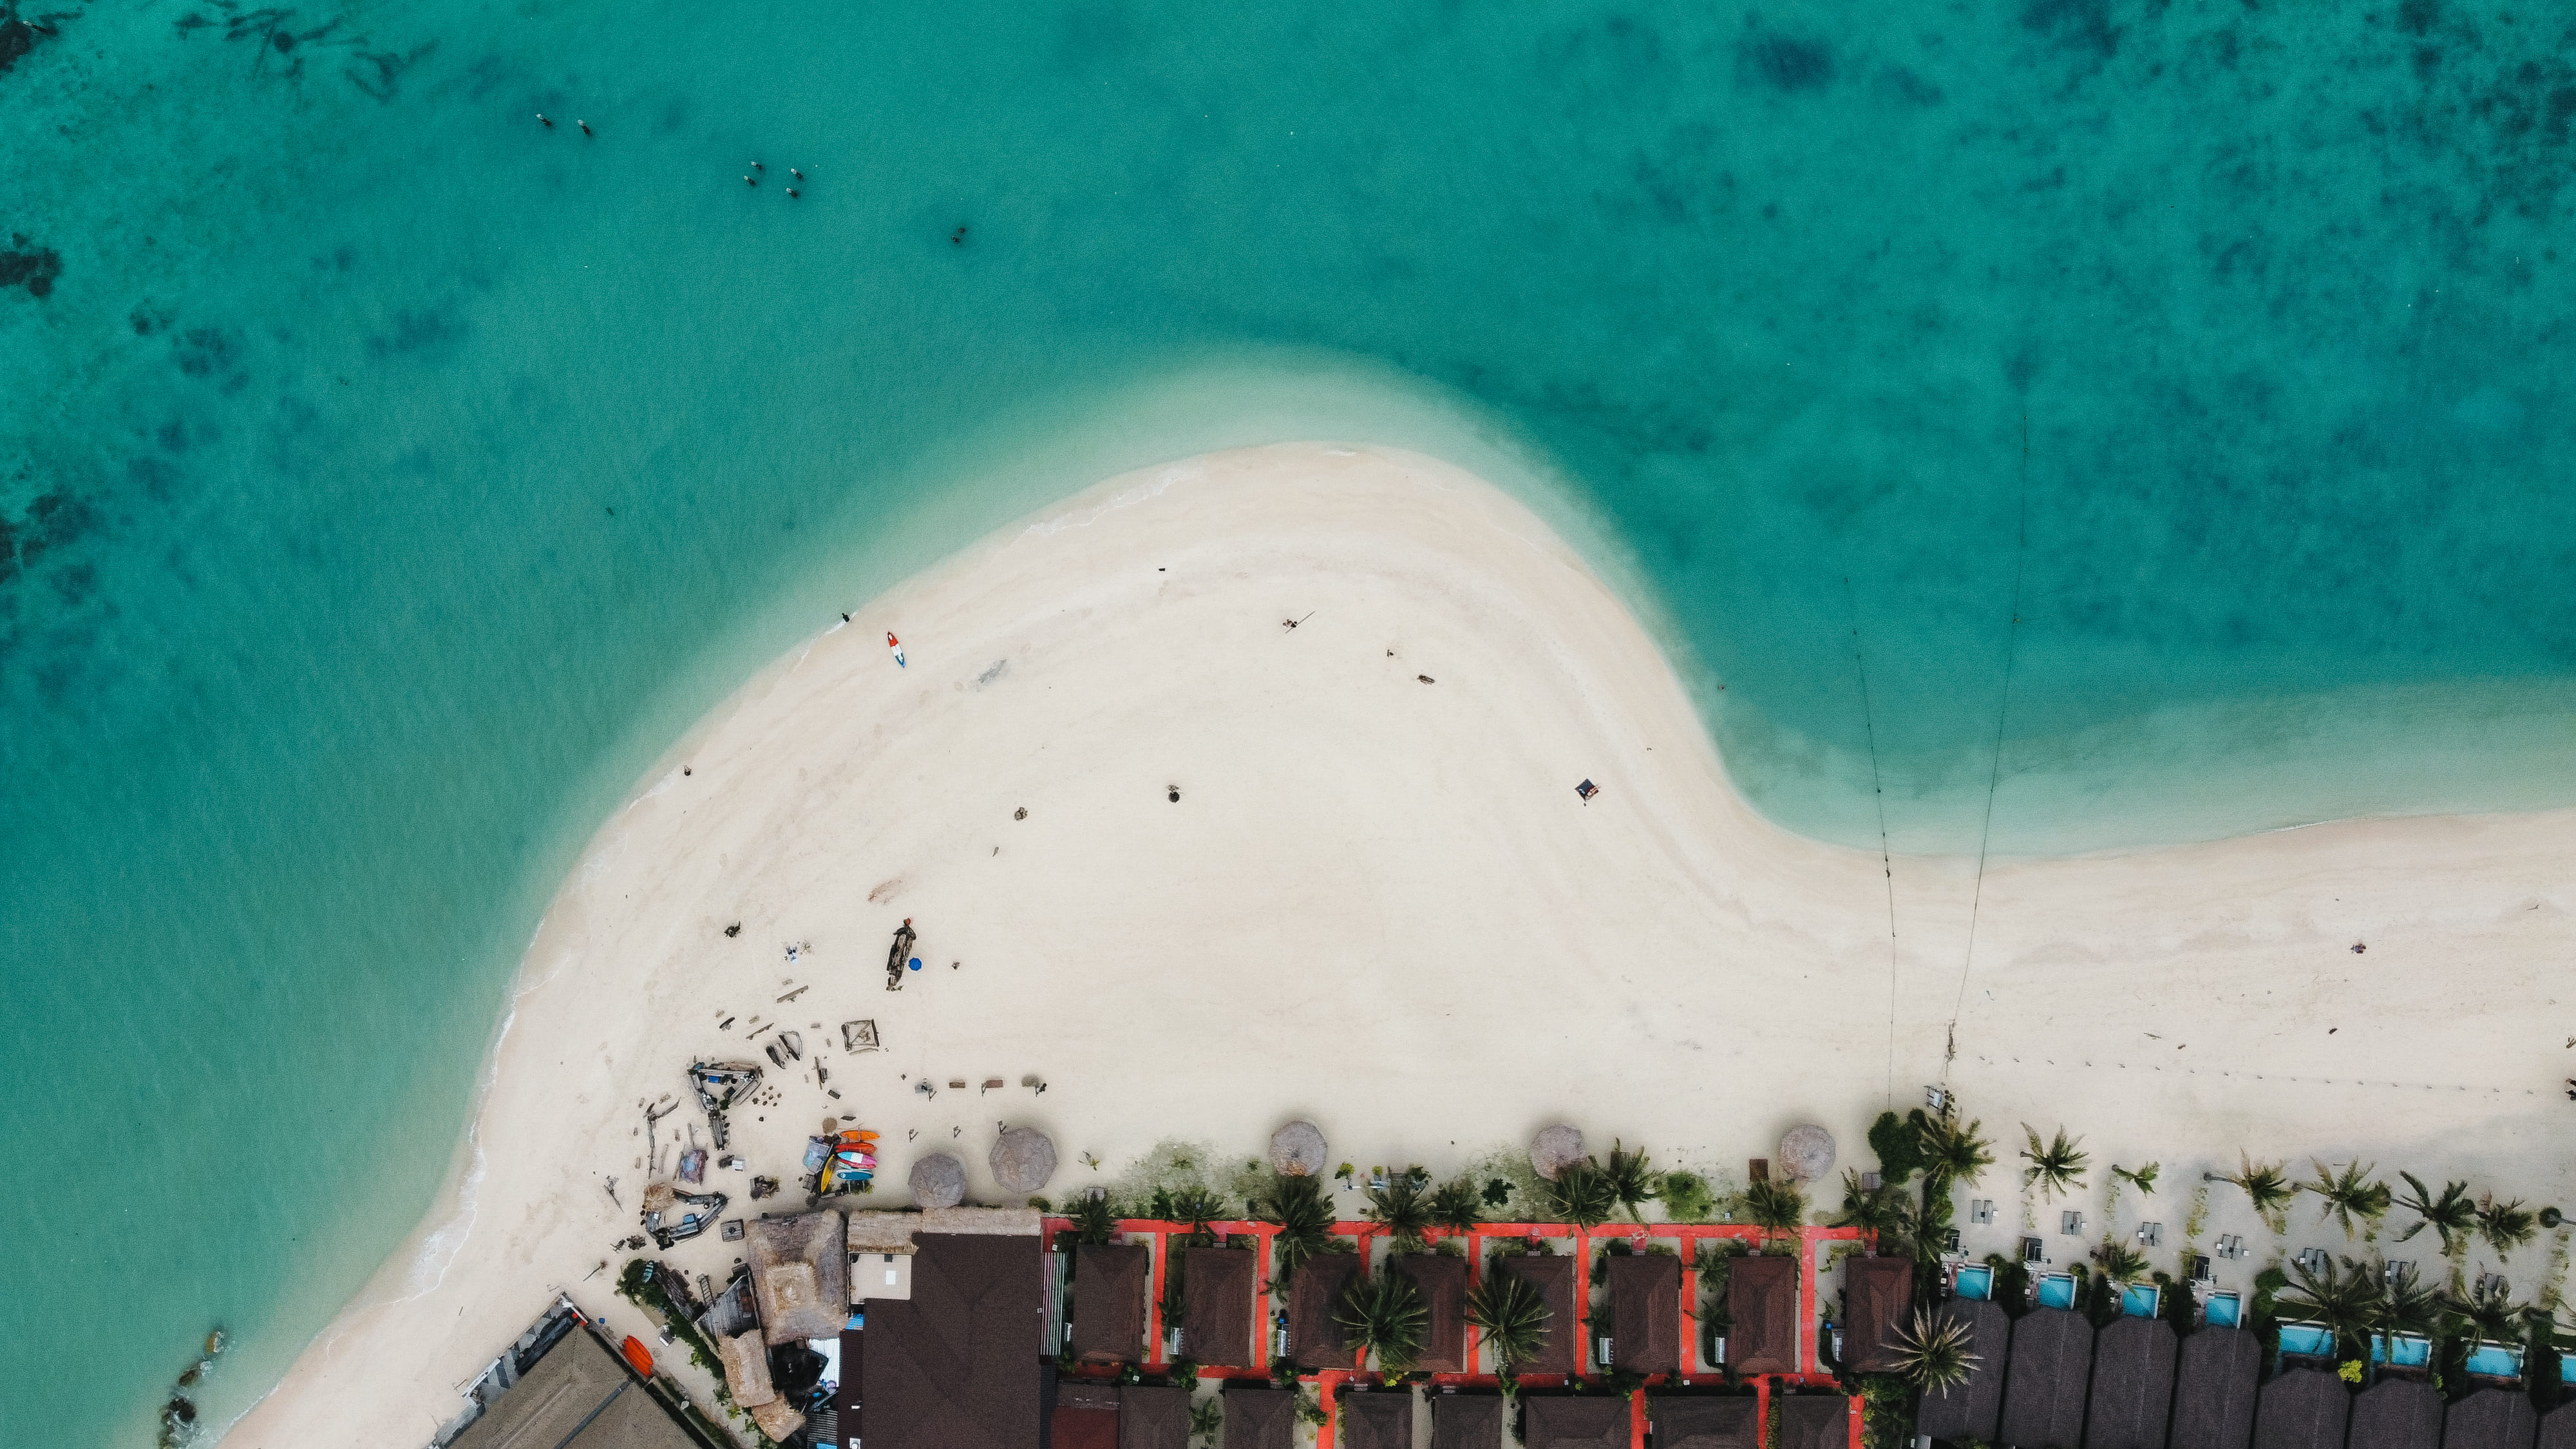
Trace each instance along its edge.
{"label": "white sand beach curving out into the turquoise water", "polygon": [[[853,608],[665,758],[528,949],[451,1199],[227,1441],[422,1444],[556,1289],[641,1333],[611,1292],[639,1106],[685,1104],[693,1057],[768,1070],[773,1018],[806,1070],[734,1150],[793,1183],[848,1111],[876,1207],[930,1150],[1002,1201],[999,1124],[1054,1134],[1056,1196],[1291,1116],[1363,1168],[1571,1122],[1741,1183],[1798,1122],[1870,1165],[1868,1122],[1940,1080],[2004,1150],[1973,1250],[2020,1230],[2022,1122],[2084,1134],[2097,1209],[2105,1163],[2161,1160],[2166,1253],[2239,1147],[2576,1207],[2576,812],[1996,864],[1963,975],[1973,877],[1899,859],[1891,951],[1878,856],[1757,817],[1654,639],[1486,482],[1321,443],[1121,477]],[[889,993],[904,918],[925,969]],[[860,1018],[881,1052],[842,1052]],[[729,1214],[801,1204],[708,1178]]]}

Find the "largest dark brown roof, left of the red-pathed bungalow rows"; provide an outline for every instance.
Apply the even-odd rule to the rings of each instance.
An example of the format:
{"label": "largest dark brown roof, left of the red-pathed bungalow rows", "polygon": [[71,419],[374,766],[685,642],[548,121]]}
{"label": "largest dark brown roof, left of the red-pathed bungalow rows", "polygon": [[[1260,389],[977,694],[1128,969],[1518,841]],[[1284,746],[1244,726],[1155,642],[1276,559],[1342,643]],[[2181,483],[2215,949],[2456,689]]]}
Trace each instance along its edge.
{"label": "largest dark brown roof, left of the red-pathed bungalow rows", "polygon": [[871,1299],[850,1439],[1028,1449],[1038,1441],[1043,1269],[1036,1235],[922,1232],[909,1299]]}

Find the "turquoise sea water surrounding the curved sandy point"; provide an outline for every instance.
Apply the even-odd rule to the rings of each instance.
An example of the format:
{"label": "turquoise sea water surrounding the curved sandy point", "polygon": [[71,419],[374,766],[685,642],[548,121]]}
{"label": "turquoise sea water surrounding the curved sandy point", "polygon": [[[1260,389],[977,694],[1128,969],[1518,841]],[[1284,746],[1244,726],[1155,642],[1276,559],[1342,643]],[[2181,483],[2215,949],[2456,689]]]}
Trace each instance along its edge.
{"label": "turquoise sea water surrounding the curved sandy point", "polygon": [[1826,838],[2576,802],[2571,131],[2519,3],[0,0],[0,1444],[237,1413],[636,771],[1172,454],[1484,467]]}

